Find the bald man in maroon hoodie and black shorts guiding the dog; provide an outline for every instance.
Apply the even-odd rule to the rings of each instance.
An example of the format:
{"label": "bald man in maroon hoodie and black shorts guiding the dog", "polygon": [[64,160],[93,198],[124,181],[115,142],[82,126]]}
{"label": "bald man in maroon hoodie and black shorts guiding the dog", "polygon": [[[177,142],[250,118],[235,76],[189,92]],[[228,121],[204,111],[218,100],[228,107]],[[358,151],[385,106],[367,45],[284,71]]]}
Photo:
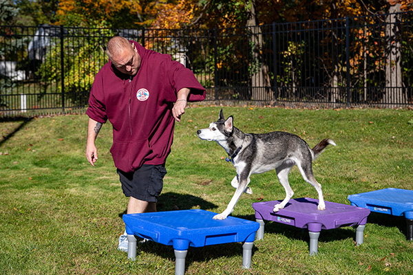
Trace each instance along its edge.
{"label": "bald man in maroon hoodie and black shorts guiding the dog", "polygon": [[[175,121],[180,122],[187,102],[204,100],[205,89],[191,72],[171,56],[147,50],[135,41],[115,36],[107,43],[106,63],[96,74],[89,96],[87,161],[95,165],[96,137],[109,120],[113,128],[110,149],[127,213],[156,211],[167,173]],[[119,249],[127,251],[122,234]]]}

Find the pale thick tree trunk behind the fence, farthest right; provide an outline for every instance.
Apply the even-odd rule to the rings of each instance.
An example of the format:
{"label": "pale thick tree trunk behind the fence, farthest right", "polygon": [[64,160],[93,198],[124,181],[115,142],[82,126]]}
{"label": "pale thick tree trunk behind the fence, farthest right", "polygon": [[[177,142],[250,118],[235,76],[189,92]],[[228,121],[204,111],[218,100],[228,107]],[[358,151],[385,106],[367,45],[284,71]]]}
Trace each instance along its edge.
{"label": "pale thick tree trunk behind the fence, farthest right", "polygon": [[400,107],[406,102],[401,79],[401,43],[399,39],[400,4],[392,5],[385,25],[385,93],[383,102],[389,107]]}

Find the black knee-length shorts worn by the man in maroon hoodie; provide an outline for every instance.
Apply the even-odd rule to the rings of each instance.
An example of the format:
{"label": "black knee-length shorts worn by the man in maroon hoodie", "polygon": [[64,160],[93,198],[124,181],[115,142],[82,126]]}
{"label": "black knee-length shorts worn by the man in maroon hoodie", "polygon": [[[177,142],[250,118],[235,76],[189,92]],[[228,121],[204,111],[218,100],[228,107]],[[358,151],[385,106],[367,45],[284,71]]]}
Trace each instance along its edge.
{"label": "black knee-length shorts worn by the man in maroon hoodie", "polygon": [[158,201],[163,188],[163,178],[167,174],[165,164],[144,164],[134,172],[125,173],[119,169],[117,172],[126,197],[134,197],[141,201]]}

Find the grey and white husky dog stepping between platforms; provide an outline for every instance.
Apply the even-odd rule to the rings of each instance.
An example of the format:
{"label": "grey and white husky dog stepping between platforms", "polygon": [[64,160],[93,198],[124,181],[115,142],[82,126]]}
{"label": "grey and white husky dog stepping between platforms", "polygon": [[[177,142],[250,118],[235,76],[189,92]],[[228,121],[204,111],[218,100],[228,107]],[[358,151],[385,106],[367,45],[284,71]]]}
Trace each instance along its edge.
{"label": "grey and white husky dog stepping between platforms", "polygon": [[275,169],[279,182],[286,190],[286,197],[274,206],[274,212],[286,206],[286,203],[293,197],[294,192],[288,183],[288,173],[294,165],[297,165],[304,180],[315,187],[318,192],[318,210],[325,210],[323,191],[313,175],[312,162],[316,159],[329,144],[336,145],[333,140],[326,138],[319,144],[310,148],[308,144],[301,140],[301,137],[286,132],[271,133],[243,133],[233,126],[232,115],[225,120],[220,111],[220,118],[216,122],[209,124],[209,128],[197,131],[201,140],[215,141],[228,153],[226,161],[231,161],[237,175],[231,181],[231,186],[237,188],[229,205],[224,212],[215,215],[213,219],[226,219],[240,199],[242,192],[252,194],[248,188],[251,174],[264,173]]}

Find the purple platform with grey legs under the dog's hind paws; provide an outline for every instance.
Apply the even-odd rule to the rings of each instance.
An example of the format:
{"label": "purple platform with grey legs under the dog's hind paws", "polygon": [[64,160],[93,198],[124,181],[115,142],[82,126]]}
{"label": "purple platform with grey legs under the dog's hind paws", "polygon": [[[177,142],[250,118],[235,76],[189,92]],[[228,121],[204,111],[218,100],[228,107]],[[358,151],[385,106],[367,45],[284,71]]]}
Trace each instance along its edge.
{"label": "purple platform with grey legs under the dog's hind paws", "polygon": [[290,199],[284,209],[273,212],[279,201],[253,203],[255,219],[260,223],[257,239],[264,238],[264,220],[306,228],[310,234],[310,254],[317,253],[318,237],[321,230],[359,225],[356,232],[357,244],[363,243],[364,227],[370,210],[341,203],[325,201],[326,210],[317,210],[318,199]]}

